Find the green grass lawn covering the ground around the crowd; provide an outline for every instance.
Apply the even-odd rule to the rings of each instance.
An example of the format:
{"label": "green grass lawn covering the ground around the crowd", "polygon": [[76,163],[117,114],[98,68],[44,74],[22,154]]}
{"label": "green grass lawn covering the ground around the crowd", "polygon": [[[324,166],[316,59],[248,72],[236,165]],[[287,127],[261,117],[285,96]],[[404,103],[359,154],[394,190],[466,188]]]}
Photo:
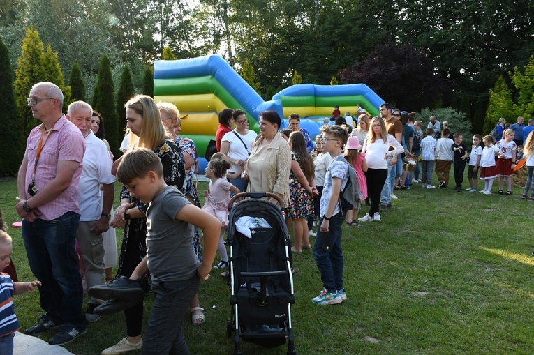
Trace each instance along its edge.
{"label": "green grass lawn covering the ground around the crowd", "polygon": [[[205,188],[200,183],[200,190]],[[0,206],[9,224],[17,217],[15,194],[15,181],[0,183]],[[299,354],[531,354],[534,204],[519,198],[519,188],[512,196],[487,196],[424,190],[416,184],[396,195],[399,199],[382,213],[382,222],[345,227],[348,300],[340,305],[311,303],[321,289],[320,275],[309,250],[295,255],[292,322]],[[31,280],[20,229],[9,233],[19,278]],[[184,322],[191,354],[232,354],[232,341],[225,335],[229,294],[216,270],[202,283],[206,322],[193,326],[190,315]],[[145,301],[145,318],[151,299]],[[15,297],[22,328],[38,319],[38,300],[37,293]],[[103,317],[66,348],[80,355],[100,354],[125,331],[123,315]],[[242,345],[244,354],[287,350]]]}

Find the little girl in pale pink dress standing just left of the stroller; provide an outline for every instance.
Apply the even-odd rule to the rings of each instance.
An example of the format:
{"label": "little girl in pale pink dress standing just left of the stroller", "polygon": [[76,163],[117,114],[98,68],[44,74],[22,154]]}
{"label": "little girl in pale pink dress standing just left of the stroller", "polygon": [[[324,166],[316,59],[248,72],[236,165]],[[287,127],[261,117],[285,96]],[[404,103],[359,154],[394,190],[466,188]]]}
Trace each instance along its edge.
{"label": "little girl in pale pink dress standing just left of the stroller", "polygon": [[[228,203],[230,192],[239,193],[239,189],[226,180],[226,170],[231,165],[226,160],[212,159],[206,167],[206,177],[210,180],[208,190],[204,191],[206,202],[202,209],[206,210],[221,221],[221,238],[218,241],[217,250],[221,254],[221,262],[214,268],[224,269],[228,266],[228,253],[223,243],[224,232],[228,225]],[[224,176],[224,177],[223,177]]]}

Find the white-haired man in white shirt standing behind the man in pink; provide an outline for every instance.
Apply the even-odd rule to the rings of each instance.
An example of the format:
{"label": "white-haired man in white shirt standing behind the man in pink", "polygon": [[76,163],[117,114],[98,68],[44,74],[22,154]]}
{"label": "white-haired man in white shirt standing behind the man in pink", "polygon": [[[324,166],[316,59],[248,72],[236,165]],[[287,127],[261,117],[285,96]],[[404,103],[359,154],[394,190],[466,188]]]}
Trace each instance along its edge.
{"label": "white-haired man in white shirt standing behind the man in pink", "polygon": [[[85,141],[85,153],[78,190],[80,204],[80,225],[77,239],[84,256],[85,281],[87,289],[101,285],[104,279],[104,246],[102,233],[110,228],[110,211],[113,204],[114,181],[111,174],[110,153],[101,139],[91,131],[93,109],[88,103],[76,101],[68,105],[67,119],[80,129]],[[101,204],[100,186],[103,186]],[[101,300],[91,298],[86,319],[94,322],[100,318],[93,314]]]}

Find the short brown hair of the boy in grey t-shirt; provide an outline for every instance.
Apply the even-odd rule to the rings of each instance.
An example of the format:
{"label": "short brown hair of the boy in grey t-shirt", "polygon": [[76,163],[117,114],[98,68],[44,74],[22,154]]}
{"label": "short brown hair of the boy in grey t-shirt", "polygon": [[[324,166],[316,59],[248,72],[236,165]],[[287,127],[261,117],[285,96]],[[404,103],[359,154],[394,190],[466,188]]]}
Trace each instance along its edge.
{"label": "short brown hair of the boy in grey t-shirt", "polygon": [[127,151],[117,168],[117,181],[125,185],[134,179],[142,179],[148,172],[155,172],[163,177],[163,165],[154,151],[147,148],[135,148]]}

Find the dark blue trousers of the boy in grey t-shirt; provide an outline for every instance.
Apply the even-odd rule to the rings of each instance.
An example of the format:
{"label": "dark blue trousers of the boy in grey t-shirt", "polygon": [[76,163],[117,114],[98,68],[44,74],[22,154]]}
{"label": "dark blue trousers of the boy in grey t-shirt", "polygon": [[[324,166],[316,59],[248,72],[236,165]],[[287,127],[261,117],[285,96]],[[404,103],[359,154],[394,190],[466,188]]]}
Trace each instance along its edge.
{"label": "dark blue trousers of the boy in grey t-shirt", "polygon": [[144,335],[143,354],[188,355],[189,350],[182,333],[184,315],[200,287],[200,278],[189,280],[152,282],[156,295]]}

